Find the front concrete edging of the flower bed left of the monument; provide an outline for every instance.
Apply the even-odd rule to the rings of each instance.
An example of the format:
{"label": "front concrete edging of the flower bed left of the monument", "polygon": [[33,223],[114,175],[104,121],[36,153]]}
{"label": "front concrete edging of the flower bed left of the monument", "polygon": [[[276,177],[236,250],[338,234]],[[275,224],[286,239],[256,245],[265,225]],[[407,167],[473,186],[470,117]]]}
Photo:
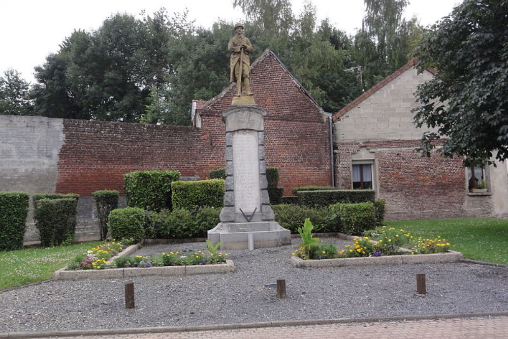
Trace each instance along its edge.
{"label": "front concrete edging of the flower bed left of the monument", "polygon": [[226,259],[225,264],[213,265],[186,265],[186,266],[161,266],[161,267],[130,267],[130,268],[108,268],[108,269],[87,269],[87,270],[65,270],[59,269],[54,274],[54,279],[60,280],[83,280],[83,279],[123,279],[136,276],[185,276],[196,274],[229,273],[235,271],[232,260]]}

